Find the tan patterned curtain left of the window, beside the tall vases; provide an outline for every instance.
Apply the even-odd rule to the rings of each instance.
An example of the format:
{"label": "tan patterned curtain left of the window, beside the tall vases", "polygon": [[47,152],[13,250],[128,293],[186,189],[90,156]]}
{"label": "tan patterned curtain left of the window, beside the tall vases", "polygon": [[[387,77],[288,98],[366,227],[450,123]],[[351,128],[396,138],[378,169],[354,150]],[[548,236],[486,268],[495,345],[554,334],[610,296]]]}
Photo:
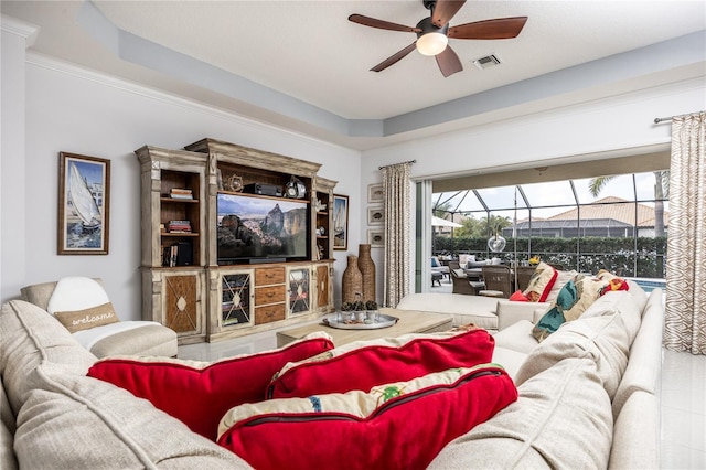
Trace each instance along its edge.
{"label": "tan patterned curtain left of the window, beside the tall vases", "polygon": [[409,247],[411,221],[411,163],[384,167],[385,193],[385,306],[396,307],[409,290]]}

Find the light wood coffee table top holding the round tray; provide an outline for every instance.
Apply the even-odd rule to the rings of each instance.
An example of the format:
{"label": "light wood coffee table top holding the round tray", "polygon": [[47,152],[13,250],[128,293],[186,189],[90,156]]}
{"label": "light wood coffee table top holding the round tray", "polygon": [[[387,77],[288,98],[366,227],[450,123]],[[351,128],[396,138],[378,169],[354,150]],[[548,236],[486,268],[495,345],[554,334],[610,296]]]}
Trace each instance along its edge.
{"label": "light wood coffee table top holding the round tray", "polygon": [[333,339],[333,344],[341,346],[353,341],[377,340],[381,338],[395,338],[409,333],[434,333],[451,329],[451,316],[420,312],[416,310],[396,310],[383,308],[381,313],[396,317],[397,323],[376,330],[340,330],[321,322],[304,327],[292,328],[277,332],[277,348],[281,348],[292,341],[300,340],[314,331],[325,331]]}

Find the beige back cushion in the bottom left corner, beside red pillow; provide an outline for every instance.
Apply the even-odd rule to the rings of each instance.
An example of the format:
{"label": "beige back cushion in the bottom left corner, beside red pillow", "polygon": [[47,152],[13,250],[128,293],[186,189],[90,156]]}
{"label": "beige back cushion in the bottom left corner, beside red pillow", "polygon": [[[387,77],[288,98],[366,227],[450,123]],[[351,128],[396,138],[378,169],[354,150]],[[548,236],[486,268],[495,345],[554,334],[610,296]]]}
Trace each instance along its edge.
{"label": "beige back cushion in the bottom left corner, beside red pillow", "polygon": [[36,372],[18,415],[20,468],[250,468],[122,388],[56,364]]}

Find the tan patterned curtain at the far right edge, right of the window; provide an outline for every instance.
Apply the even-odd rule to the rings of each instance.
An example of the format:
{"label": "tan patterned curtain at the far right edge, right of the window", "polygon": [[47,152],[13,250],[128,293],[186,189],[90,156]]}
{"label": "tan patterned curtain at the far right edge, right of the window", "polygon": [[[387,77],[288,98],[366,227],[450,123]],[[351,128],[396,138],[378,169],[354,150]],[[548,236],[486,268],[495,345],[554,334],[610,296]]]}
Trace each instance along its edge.
{"label": "tan patterned curtain at the far right edge, right of the window", "polygon": [[706,113],[672,119],[664,346],[706,354]]}

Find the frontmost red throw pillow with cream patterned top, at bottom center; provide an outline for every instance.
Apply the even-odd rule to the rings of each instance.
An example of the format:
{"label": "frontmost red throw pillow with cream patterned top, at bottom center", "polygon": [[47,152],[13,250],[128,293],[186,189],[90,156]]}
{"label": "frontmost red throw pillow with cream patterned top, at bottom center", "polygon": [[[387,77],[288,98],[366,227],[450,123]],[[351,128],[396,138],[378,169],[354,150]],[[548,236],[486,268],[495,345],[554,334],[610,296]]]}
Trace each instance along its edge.
{"label": "frontmost red throw pillow with cream patterned top, at bottom center", "polygon": [[424,469],[451,440],[517,399],[495,364],[370,393],[282,398],[231,409],[218,444],[256,469]]}

